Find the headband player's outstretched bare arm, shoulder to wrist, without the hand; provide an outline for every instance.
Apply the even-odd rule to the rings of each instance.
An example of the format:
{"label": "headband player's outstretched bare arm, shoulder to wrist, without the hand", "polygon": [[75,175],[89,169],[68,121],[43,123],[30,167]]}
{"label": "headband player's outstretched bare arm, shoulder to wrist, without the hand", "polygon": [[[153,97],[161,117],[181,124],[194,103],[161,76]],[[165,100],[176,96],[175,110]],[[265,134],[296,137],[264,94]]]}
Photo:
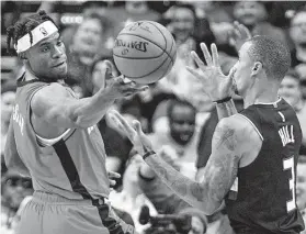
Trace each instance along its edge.
{"label": "headband player's outstretched bare arm, shoulder to wrist, without the hand", "polygon": [[89,127],[105,114],[114,98],[107,93],[76,99],[59,83],[52,83],[37,91],[31,101],[33,113],[58,127]]}

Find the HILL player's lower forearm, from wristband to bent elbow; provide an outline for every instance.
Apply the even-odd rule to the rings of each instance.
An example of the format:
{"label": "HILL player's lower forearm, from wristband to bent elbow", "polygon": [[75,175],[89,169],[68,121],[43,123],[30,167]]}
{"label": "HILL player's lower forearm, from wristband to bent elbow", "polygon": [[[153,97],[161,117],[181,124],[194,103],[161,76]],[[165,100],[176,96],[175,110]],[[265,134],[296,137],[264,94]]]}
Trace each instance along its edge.
{"label": "HILL player's lower forearm, from wristband to bent elbow", "polygon": [[201,209],[206,214],[214,213],[218,208],[207,197],[207,183],[189,179],[156,154],[146,157],[145,161],[171,190],[190,205]]}

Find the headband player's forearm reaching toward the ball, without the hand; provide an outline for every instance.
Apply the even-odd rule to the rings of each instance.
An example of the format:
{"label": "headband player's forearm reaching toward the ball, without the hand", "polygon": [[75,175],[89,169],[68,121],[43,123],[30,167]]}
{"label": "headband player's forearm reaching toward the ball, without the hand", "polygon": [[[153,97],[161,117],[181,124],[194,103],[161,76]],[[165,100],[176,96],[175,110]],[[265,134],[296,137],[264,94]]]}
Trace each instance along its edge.
{"label": "headband player's forearm reaching toward the ball, without the hand", "polygon": [[111,90],[99,90],[93,97],[80,99],[77,107],[70,108],[70,116],[78,127],[97,124],[115,101]]}

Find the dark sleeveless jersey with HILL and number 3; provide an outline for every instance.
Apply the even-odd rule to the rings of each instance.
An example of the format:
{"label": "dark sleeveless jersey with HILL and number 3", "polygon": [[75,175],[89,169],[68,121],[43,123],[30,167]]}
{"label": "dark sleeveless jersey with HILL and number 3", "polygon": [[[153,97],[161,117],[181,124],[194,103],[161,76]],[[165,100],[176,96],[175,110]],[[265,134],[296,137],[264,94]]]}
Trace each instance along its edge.
{"label": "dark sleeveless jersey with HILL and number 3", "polygon": [[295,111],[280,99],[240,114],[258,131],[262,147],[250,165],[238,169],[238,187],[226,197],[230,224],[237,234],[299,233],[304,222],[295,179],[302,131]]}

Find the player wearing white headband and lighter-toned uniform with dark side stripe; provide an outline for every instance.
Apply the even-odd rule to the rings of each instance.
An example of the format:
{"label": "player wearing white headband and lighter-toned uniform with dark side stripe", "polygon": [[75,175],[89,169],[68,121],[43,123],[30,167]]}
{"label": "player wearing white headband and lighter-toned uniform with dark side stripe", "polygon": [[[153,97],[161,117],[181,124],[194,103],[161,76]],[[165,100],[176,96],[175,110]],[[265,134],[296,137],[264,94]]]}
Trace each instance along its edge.
{"label": "player wearing white headband and lighter-toned uniform with dark side stripe", "polygon": [[9,48],[11,41],[25,73],[18,79],[5,161],[30,175],[35,190],[18,233],[134,233],[109,205],[106,155],[95,124],[116,99],[146,87],[117,77],[93,97],[75,98],[65,85],[65,46],[44,11],[9,27]]}

